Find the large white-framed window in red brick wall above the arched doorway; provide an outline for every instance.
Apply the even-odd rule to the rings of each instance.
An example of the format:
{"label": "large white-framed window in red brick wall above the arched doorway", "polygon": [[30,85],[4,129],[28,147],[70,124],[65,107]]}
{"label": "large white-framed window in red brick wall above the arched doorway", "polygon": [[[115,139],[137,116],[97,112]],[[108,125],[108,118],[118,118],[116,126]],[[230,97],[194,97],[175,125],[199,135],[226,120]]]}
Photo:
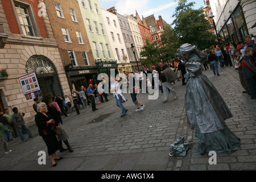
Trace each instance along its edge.
{"label": "large white-framed window in red brick wall above the arched doorway", "polygon": [[18,16],[22,34],[29,35],[29,36],[36,36],[35,30],[31,21],[31,14],[29,13],[28,8],[29,7],[15,4],[15,10]]}

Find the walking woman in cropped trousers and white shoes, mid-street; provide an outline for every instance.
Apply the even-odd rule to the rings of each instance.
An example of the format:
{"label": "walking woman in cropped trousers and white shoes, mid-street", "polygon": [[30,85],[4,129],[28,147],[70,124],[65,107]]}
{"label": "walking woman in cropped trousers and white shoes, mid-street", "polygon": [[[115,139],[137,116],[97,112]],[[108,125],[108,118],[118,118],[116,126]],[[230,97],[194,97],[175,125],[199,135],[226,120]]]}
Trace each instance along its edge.
{"label": "walking woman in cropped trousers and white shoes, mid-street", "polygon": [[141,102],[139,102],[138,100],[137,100],[137,93],[135,93],[135,90],[134,90],[134,88],[135,88],[135,86],[136,86],[136,82],[135,82],[135,77],[131,74],[131,72],[130,71],[126,71],[125,72],[125,75],[127,76],[127,79],[128,79],[128,81],[127,81],[127,84],[130,84],[130,83],[132,83],[132,81],[131,80],[133,80],[133,90],[131,90],[130,88],[129,88],[129,92],[130,92],[130,94],[131,94],[131,100],[133,100],[133,103],[135,104],[135,106],[137,107],[137,109],[134,111],[135,113],[137,113],[138,111],[142,111],[143,109],[144,109],[144,105],[143,104],[141,104]]}

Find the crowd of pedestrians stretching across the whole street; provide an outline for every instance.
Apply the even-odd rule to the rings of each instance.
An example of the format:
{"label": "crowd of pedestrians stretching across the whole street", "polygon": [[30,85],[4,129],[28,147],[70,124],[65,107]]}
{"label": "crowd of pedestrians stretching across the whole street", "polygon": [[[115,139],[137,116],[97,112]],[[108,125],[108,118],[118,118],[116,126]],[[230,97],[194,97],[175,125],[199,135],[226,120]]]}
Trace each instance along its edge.
{"label": "crowd of pedestrians stretching across the whole street", "polygon": [[[229,65],[237,69],[241,85],[245,89],[242,93],[247,93],[251,99],[256,99],[255,39],[245,36],[244,42],[209,48],[205,52],[205,59],[203,60],[204,70],[207,71],[210,68],[213,74],[217,76],[220,76],[219,67],[222,69]],[[143,71],[135,70],[134,73],[126,71],[126,78],[123,80],[110,77],[109,84],[104,84],[104,86],[108,86],[107,90],[113,94],[115,105],[121,109],[121,117],[125,117],[128,109],[123,106],[123,102],[126,102],[127,99],[122,94],[122,85],[129,88],[131,100],[136,107],[135,113],[143,111],[145,107],[142,104],[143,101],[138,101],[138,93],[148,93],[151,89],[158,88],[163,93],[162,102],[169,101],[170,93],[173,100],[176,100],[178,97],[174,88],[175,82],[181,80],[182,85],[187,84],[185,80],[187,62],[188,57],[176,57],[165,63],[159,61],[150,69],[144,67]],[[46,143],[53,167],[57,165],[56,160],[63,159],[56,155],[57,150],[73,152],[61,116],[68,117],[69,113],[73,111],[73,107],[75,107],[76,114],[79,115],[80,106],[84,109],[91,107],[94,112],[98,110],[96,108],[97,101],[99,105],[109,101],[108,93],[102,92],[101,83],[99,85],[89,84],[88,88],[80,86],[78,90],[72,89],[71,98],[66,95],[63,99],[59,95],[55,97],[49,94],[44,96],[41,101],[38,98],[34,99],[32,107],[36,112],[35,123],[40,137]],[[10,113],[9,109],[5,110],[5,114],[0,113],[0,146],[3,146],[5,154],[11,152],[8,145],[11,140],[20,137],[22,142],[26,142],[24,134],[28,134],[30,139],[34,138],[30,129],[25,125],[23,117],[24,113],[20,113],[17,107],[13,108],[13,113]],[[56,135],[57,130],[60,132],[58,135]],[[63,143],[67,148],[63,147]]]}

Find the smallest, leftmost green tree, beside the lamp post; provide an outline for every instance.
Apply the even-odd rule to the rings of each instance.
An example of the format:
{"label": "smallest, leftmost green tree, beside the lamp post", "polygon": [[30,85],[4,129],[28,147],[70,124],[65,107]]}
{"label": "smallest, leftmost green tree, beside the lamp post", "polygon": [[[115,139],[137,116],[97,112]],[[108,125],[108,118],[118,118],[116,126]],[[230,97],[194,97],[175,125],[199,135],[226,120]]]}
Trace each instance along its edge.
{"label": "smallest, leftmost green tree, beside the lamp post", "polygon": [[146,63],[155,64],[159,61],[159,50],[156,46],[156,42],[150,43],[149,40],[146,40],[146,45],[142,47],[143,51],[141,51],[141,57],[147,57]]}

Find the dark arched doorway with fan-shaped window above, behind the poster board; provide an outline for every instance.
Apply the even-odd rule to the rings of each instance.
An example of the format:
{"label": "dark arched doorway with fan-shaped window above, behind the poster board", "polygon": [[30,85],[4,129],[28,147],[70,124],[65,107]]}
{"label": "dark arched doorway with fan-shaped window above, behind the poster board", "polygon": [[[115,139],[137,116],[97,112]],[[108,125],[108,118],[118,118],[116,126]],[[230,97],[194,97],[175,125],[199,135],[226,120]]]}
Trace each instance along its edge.
{"label": "dark arched doorway with fan-shaped window above, behind the poster board", "polygon": [[53,96],[60,95],[64,98],[55,65],[51,60],[42,55],[31,56],[26,63],[26,73],[33,72],[36,73],[38,78],[42,96],[51,93]]}

